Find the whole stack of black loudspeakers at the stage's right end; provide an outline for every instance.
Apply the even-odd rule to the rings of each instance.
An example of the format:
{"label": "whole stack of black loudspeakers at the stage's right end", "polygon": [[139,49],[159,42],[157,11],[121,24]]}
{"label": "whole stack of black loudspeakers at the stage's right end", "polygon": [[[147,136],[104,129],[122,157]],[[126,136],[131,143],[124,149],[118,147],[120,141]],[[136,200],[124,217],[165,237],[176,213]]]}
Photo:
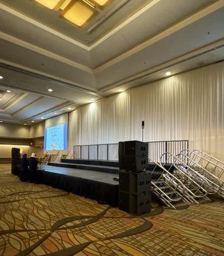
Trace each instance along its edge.
{"label": "whole stack of black loudspeakers at the stage's right end", "polygon": [[148,166],[148,143],[119,142],[119,209],[135,215],[150,212],[151,181]]}

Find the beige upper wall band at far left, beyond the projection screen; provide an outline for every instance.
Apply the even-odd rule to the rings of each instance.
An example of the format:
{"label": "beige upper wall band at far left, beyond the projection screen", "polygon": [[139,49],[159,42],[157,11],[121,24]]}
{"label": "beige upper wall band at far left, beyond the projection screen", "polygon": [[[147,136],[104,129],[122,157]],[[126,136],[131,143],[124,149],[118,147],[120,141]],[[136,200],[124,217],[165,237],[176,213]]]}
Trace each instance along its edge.
{"label": "beige upper wall band at far left, beyond the projection screen", "polygon": [[29,126],[0,123],[0,137],[29,138]]}

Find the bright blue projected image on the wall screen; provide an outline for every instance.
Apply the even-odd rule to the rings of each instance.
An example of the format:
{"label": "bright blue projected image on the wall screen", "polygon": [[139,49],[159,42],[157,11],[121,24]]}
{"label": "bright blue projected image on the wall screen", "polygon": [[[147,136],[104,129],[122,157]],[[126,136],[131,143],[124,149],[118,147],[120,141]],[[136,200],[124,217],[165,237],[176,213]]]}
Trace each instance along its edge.
{"label": "bright blue projected image on the wall screen", "polygon": [[68,124],[60,124],[45,129],[44,150],[68,149]]}

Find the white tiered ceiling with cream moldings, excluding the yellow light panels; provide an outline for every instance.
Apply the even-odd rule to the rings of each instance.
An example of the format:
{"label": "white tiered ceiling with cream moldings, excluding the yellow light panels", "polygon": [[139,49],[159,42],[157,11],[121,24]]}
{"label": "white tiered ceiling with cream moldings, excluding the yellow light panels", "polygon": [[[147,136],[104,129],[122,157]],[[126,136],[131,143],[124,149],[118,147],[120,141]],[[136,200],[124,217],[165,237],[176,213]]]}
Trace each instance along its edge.
{"label": "white tiered ceiling with cream moldings, excluding the yellow light panels", "polygon": [[115,0],[84,29],[56,17],[30,0],[0,0],[0,120],[38,122],[224,60],[224,0]]}

